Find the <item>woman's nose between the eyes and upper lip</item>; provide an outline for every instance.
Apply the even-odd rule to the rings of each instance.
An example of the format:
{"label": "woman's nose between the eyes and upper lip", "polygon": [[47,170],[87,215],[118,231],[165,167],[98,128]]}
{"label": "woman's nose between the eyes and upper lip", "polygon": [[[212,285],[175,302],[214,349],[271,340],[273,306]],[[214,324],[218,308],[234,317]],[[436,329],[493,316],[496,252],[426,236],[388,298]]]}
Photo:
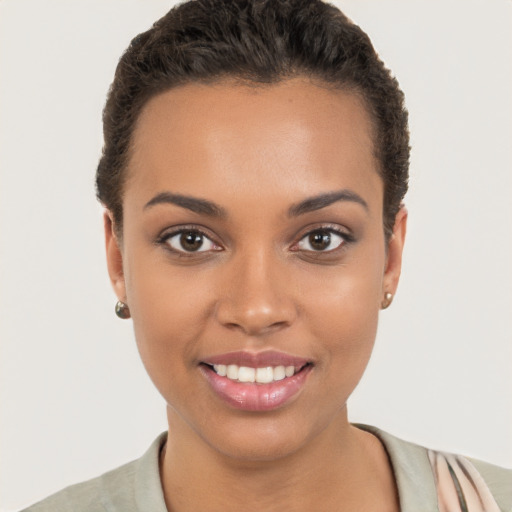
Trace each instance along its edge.
{"label": "woman's nose between the eyes and upper lip", "polygon": [[248,336],[263,336],[289,327],[297,316],[293,282],[286,262],[264,251],[227,264],[216,305],[217,320]]}

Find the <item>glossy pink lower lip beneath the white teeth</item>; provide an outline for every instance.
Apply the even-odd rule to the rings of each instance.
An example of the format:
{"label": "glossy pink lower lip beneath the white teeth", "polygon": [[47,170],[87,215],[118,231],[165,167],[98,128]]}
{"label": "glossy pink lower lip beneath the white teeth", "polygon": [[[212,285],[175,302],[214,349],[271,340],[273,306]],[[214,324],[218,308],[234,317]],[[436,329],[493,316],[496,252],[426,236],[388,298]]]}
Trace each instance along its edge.
{"label": "glossy pink lower lip beneath the white teeth", "polygon": [[201,365],[213,391],[232,407],[244,411],[271,411],[284,406],[303,389],[311,369],[307,365],[292,377],[256,384],[221,377],[210,366]]}

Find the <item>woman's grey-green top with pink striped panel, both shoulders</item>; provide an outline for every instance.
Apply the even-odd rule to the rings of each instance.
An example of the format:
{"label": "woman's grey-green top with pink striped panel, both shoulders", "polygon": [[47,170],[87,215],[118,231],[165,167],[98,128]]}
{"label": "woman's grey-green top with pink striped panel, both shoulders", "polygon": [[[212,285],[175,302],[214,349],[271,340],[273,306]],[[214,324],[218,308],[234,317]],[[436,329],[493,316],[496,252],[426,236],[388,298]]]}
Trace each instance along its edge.
{"label": "woman's grey-green top with pink striped panel, both shoulders", "polygon": [[[482,485],[489,489],[493,497],[491,500],[498,506],[495,510],[512,511],[512,470],[427,450],[375,427],[356,426],[377,436],[388,452],[397,482],[402,512],[439,512],[440,510],[441,512],[443,510],[465,512],[464,508],[447,508],[444,504],[447,503],[446,500],[449,503],[450,499],[459,501],[456,491],[458,487],[465,485],[463,480],[464,474],[467,474],[467,468],[476,469],[481,475],[485,482]],[[158,467],[159,453],[166,438],[167,433],[161,434],[140,459],[93,480],[67,487],[22,512],[167,512]],[[444,492],[444,494],[439,506],[434,475],[435,473],[440,475],[443,467],[455,468],[459,471],[460,485],[450,484],[446,487],[447,480],[444,480],[444,491],[441,488],[441,493]],[[478,480],[478,476],[471,479],[471,481]],[[468,496],[469,493],[471,489],[468,490],[466,486],[464,490],[466,498],[471,498]],[[493,512],[491,505],[473,508],[471,499],[466,501],[468,501],[466,509],[468,512],[474,510]]]}

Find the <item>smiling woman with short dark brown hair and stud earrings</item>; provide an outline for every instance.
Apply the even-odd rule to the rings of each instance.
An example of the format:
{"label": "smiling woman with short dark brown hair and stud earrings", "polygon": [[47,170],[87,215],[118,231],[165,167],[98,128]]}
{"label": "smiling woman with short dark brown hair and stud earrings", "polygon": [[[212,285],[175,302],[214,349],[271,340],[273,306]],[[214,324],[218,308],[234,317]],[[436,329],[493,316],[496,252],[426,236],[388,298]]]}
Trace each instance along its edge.
{"label": "smiling woman with short dark brown hair and stud earrings", "polygon": [[347,420],[407,220],[403,97],[360,29],[183,4],[132,42],[104,130],[116,313],[169,436],[33,510],[510,508],[510,472]]}

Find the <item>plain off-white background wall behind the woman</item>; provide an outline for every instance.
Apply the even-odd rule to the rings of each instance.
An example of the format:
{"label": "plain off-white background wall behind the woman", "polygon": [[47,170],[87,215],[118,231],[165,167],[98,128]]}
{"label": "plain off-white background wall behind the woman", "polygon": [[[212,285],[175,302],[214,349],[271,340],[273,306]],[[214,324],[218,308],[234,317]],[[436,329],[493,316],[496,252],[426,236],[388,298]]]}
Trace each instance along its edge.
{"label": "plain off-white background wall behind the woman", "polygon": [[[512,2],[335,2],[411,116],[401,286],[352,421],[512,466]],[[165,406],[114,316],[101,109],[161,0],[0,1],[1,510],[138,457]]]}

